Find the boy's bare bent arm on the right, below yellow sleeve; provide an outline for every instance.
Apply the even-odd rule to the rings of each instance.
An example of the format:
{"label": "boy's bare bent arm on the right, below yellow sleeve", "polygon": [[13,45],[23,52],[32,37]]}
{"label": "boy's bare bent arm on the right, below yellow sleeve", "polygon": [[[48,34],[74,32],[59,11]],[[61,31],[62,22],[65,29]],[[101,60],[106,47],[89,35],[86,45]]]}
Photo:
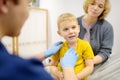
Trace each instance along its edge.
{"label": "boy's bare bent arm on the right, below yellow sleeve", "polygon": [[94,69],[93,59],[85,60],[85,66],[86,67],[80,73],[77,74],[77,78],[79,80],[84,79],[85,77],[92,73]]}

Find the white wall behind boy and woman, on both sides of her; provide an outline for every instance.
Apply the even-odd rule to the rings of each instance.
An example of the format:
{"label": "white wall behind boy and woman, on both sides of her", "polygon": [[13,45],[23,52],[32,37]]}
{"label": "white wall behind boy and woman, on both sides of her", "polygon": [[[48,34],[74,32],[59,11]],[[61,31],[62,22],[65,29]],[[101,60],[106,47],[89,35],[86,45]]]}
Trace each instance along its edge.
{"label": "white wall behind boy and woman, on both sides of her", "polygon": [[[84,0],[40,0],[40,7],[48,9],[49,12],[49,45],[61,40],[61,37],[57,34],[57,17],[64,12],[71,12],[75,16],[81,16],[83,11]],[[107,20],[111,22],[114,28],[114,52],[118,53],[120,48],[120,0],[110,0],[112,9],[107,17]]]}

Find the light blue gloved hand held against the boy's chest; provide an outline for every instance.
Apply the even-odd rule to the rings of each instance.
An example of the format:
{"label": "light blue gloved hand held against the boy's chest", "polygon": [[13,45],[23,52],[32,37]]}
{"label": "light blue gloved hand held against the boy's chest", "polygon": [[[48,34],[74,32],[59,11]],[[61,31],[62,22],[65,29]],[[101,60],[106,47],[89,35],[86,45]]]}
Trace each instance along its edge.
{"label": "light blue gloved hand held against the boy's chest", "polygon": [[70,48],[64,55],[64,57],[60,60],[60,64],[62,68],[64,67],[72,67],[74,68],[75,63],[78,59],[78,55],[76,54],[73,48]]}

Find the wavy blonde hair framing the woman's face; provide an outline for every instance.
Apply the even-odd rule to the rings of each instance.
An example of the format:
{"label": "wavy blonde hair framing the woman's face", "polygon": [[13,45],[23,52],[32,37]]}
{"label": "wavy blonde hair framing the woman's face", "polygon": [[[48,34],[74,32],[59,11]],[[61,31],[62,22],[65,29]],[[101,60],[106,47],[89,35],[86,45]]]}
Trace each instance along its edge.
{"label": "wavy blonde hair framing the woman's face", "polygon": [[[93,3],[94,1],[95,1],[95,0],[85,0],[85,1],[84,1],[83,8],[84,8],[85,13],[88,13],[88,6],[89,6],[91,3]],[[110,12],[110,2],[109,2],[109,0],[105,0],[104,10],[103,10],[103,12],[101,13],[101,15],[98,17],[98,19],[104,19],[109,12]]]}

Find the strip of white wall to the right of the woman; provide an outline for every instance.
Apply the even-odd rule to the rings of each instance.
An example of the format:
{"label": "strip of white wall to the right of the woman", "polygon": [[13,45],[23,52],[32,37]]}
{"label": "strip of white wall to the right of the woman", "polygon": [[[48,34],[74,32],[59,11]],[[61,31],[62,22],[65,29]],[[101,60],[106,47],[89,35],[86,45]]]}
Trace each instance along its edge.
{"label": "strip of white wall to the right of the woman", "polygon": [[120,53],[120,0],[111,1],[111,12],[107,20],[113,25],[114,29],[114,47],[113,52]]}

